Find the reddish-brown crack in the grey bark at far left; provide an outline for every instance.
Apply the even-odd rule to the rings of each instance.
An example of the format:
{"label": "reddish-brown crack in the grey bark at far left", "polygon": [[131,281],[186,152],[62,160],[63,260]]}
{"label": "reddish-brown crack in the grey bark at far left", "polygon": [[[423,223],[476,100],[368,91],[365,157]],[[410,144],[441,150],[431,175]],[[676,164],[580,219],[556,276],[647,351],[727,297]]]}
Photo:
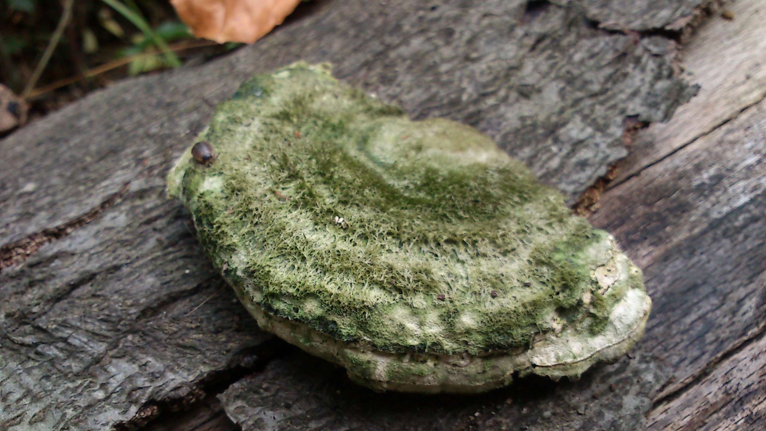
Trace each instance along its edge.
{"label": "reddish-brown crack in the grey bark at far left", "polygon": [[41,232],[29,235],[25,239],[11,242],[10,244],[0,247],[0,272],[5,268],[24,262],[29,256],[34,255],[34,253],[43,245],[65,238],[76,229],[93,222],[93,220],[97,219],[105,209],[114,206],[123,200],[126,192],[128,192],[129,186],[130,183],[125,183],[118,192],[113,193],[113,195],[101,202],[100,205],[86,212],[82,216],[71,219],[54,228],[44,229]]}

